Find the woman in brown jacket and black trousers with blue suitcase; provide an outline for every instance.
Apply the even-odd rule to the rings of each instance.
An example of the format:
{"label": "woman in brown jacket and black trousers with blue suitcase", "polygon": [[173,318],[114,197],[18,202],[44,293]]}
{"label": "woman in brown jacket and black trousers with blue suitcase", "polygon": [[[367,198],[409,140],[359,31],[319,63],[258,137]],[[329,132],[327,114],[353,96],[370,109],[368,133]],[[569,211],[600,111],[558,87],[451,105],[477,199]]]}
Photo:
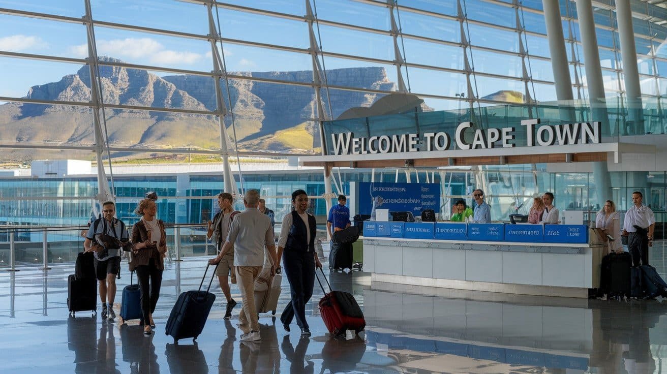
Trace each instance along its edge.
{"label": "woman in brown jacket and black trousers with blue suitcase", "polygon": [[[132,229],[133,259],[130,268],[137,271],[139,289],[141,289],[141,311],[143,311],[143,333],[151,335],[155,329],[153,312],[160,296],[162,271],[165,269],[164,257],[167,253],[165,225],[155,217],[155,201],[143,199],[136,209],[141,215],[139,222]],[[149,285],[150,281],[150,285]]]}

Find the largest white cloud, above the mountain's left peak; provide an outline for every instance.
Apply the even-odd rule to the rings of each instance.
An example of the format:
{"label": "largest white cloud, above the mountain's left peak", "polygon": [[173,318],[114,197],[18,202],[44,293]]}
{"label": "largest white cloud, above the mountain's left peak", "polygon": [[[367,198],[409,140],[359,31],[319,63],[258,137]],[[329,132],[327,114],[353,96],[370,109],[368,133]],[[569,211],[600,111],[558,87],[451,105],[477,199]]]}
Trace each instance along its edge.
{"label": "largest white cloud, above the mountain's left peak", "polygon": [[[87,57],[88,47],[85,44],[74,45],[69,47],[69,52],[77,57]],[[210,55],[210,53],[208,54]],[[205,56],[194,52],[171,51],[151,38],[98,40],[97,55],[130,59],[133,63],[144,63],[144,61],[137,60],[147,59],[146,62],[148,63],[171,65],[191,65]]]}

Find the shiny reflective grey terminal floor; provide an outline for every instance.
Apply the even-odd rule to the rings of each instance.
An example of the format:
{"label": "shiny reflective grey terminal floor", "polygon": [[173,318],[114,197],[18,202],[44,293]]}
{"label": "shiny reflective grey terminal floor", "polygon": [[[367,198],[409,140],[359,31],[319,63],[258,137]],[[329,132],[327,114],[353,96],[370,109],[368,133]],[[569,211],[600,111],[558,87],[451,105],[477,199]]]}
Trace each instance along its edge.
{"label": "shiny reflective grey terminal floor", "polygon": [[[651,256],[662,275],[664,253],[658,243]],[[69,317],[72,267],[2,271],[0,373],[667,373],[667,301],[371,286],[357,271],[327,276],[362,305],[368,326],[360,337],[328,335],[311,301],[309,339],[262,313],[261,342],[241,342],[239,307],[224,321],[223,297],[213,287],[218,301],[197,343],[174,345],[164,334],[167,316],[181,291],[197,289],[204,267],[203,259],[167,263],[151,337],[137,321]],[[124,265],[116,304],[129,278]],[[285,279],[279,307],[288,290]],[[238,289],[232,292],[238,299]],[[315,282],[313,300],[321,295]]]}

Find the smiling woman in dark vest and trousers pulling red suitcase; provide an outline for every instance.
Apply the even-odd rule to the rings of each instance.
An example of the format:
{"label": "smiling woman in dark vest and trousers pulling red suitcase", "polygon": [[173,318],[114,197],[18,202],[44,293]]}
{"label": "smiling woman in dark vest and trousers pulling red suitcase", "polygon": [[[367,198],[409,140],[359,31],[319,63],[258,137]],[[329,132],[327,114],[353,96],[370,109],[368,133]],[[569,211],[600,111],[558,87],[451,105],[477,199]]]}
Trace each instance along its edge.
{"label": "smiling woman in dark vest and trousers pulling red suitcase", "polygon": [[305,320],[305,304],[313,295],[315,267],[322,267],[315,252],[317,226],[315,217],[305,211],[308,209],[308,195],[305,191],[297,189],[292,193],[292,205],[294,210],[283,218],[278,239],[277,269],[280,269],[282,258],[291,292],[291,303],[285,307],[280,321],[285,330],[289,331],[289,324],[296,317],[301,336],[310,336],[308,322]]}

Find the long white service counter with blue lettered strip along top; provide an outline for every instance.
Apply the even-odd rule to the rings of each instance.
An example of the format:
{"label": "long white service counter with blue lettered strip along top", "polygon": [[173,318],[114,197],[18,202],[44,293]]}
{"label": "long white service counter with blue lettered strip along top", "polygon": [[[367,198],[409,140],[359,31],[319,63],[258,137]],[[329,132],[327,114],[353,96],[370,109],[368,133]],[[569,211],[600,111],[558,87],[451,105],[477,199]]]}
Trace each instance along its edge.
{"label": "long white service counter with blue lettered strip along top", "polygon": [[374,282],[588,297],[606,243],[585,225],[364,222]]}

